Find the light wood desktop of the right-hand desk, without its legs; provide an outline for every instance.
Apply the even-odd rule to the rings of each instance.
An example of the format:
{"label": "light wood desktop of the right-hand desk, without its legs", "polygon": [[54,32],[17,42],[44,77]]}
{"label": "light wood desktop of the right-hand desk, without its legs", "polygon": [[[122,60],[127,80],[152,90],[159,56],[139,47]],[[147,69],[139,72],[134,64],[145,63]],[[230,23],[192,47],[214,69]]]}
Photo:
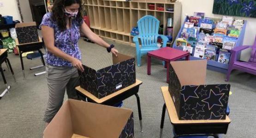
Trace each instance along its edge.
{"label": "light wood desktop of the right-hand desk, without its legs", "polygon": [[179,120],[173,99],[169,93],[168,86],[162,86],[161,91],[165,100],[166,108],[173,124],[195,124],[195,123],[230,123],[229,117],[226,115],[225,120]]}

